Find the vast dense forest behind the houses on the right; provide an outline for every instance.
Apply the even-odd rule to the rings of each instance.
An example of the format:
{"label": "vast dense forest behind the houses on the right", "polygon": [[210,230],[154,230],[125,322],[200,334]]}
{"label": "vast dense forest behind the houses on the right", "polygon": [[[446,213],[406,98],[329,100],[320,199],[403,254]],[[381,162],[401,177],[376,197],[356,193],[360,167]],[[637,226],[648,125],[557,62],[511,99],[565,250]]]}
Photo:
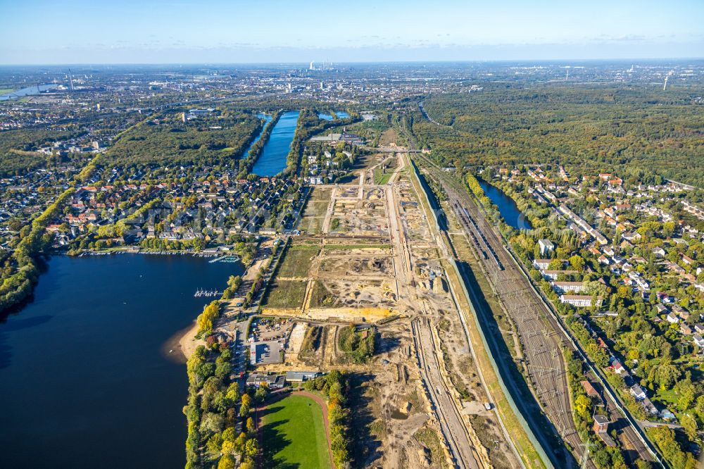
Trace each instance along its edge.
{"label": "vast dense forest behind the houses on the right", "polygon": [[422,146],[443,164],[560,163],[593,170],[651,168],[704,187],[704,89],[564,83],[489,85],[413,109]]}

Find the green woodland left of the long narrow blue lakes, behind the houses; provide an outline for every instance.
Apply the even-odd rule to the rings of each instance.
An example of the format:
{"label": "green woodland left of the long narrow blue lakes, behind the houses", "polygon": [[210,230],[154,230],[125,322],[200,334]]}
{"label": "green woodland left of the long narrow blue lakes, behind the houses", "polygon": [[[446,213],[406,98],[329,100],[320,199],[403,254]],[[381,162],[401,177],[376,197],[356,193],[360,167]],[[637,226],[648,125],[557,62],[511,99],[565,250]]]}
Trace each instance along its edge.
{"label": "green woodland left of the long narrow blue lakes, behind the houses", "polygon": [[224,165],[241,156],[262,126],[249,113],[215,111],[188,122],[168,112],[132,127],[106,152],[106,165],[202,163]]}

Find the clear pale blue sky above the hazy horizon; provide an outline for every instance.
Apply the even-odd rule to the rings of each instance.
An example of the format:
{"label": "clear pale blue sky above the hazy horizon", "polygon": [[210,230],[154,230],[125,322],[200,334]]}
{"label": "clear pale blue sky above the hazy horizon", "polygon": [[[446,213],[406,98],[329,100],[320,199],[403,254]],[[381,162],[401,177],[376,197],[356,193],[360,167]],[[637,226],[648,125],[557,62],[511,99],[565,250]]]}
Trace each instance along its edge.
{"label": "clear pale blue sky above the hazy horizon", "polygon": [[704,0],[0,0],[0,63],[704,56]]}

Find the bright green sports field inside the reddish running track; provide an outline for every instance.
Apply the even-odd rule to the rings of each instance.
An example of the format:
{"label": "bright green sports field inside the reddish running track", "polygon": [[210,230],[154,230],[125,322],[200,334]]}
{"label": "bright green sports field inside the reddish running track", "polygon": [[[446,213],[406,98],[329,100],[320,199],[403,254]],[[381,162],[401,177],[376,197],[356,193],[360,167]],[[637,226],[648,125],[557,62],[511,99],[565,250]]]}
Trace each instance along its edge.
{"label": "bright green sports field inside the reddish running track", "polygon": [[265,468],[329,468],[322,409],[306,396],[286,396],[263,412]]}

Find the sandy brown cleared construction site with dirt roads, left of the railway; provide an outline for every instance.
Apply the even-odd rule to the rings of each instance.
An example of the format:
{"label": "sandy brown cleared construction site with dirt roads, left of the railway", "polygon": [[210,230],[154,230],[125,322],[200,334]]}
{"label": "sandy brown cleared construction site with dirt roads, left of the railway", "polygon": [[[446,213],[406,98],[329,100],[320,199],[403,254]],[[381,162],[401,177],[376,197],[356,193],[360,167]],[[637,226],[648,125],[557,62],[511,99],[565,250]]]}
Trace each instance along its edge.
{"label": "sandy brown cleared construction site with dirt roads, left of the railway", "polygon": [[[260,311],[287,324],[282,359],[256,370],[352,373],[365,467],[526,467],[477,365],[408,162],[379,154],[348,184],[315,186]],[[366,361],[341,349],[352,326],[375,334]]]}

